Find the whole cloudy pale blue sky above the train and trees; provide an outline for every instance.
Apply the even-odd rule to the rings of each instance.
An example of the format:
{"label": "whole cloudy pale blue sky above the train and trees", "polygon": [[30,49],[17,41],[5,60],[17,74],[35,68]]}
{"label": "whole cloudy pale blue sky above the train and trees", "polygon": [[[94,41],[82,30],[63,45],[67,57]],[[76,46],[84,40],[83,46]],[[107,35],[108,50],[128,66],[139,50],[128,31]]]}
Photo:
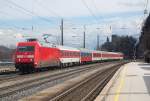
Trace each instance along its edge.
{"label": "whole cloudy pale blue sky above the train and trees", "polygon": [[86,46],[93,49],[97,34],[100,43],[112,34],[138,37],[145,7],[146,0],[0,0],[0,45],[14,45],[22,36],[42,39],[43,33],[59,40],[63,18],[64,43],[82,47],[86,25]]}

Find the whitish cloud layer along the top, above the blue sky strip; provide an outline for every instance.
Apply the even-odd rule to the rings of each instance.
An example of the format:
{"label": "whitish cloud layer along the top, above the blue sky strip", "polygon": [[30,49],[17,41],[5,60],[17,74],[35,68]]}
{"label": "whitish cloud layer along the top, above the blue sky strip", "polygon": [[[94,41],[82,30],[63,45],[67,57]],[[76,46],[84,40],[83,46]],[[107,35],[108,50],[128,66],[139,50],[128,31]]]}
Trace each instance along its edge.
{"label": "whitish cloud layer along the top, above the blue sky strip", "polygon": [[[141,10],[140,5],[143,5],[143,3],[139,2],[139,0],[135,1],[85,0],[95,15]],[[1,0],[0,2],[0,12],[6,13],[0,13],[3,16],[0,19],[32,19],[38,16],[45,18],[92,16],[82,0]],[[19,7],[14,5],[14,3]],[[138,6],[138,8],[131,9],[133,6]]]}

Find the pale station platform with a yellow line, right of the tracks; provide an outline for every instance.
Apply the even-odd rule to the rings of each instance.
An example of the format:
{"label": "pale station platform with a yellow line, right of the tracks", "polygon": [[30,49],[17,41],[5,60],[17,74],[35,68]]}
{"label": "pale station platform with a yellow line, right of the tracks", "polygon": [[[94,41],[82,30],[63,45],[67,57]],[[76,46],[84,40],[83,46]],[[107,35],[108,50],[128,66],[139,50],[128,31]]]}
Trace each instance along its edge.
{"label": "pale station platform with a yellow line, right of the tracks", "polygon": [[95,101],[150,101],[150,64],[125,64]]}

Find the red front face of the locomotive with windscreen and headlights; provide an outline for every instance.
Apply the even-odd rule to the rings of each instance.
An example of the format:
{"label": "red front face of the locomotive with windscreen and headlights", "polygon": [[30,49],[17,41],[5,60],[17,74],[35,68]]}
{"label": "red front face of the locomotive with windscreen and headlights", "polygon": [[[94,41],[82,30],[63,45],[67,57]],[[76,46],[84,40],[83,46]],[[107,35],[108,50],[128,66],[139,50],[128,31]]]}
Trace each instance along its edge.
{"label": "red front face of the locomotive with windscreen and headlights", "polygon": [[20,42],[16,49],[15,67],[22,73],[32,72],[35,67],[37,42]]}

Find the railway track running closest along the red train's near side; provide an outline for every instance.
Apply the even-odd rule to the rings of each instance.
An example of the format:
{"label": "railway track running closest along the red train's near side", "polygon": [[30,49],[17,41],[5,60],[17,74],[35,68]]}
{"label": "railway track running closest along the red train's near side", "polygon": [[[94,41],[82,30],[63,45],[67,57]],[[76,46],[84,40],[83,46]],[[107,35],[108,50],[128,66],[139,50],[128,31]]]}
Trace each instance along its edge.
{"label": "railway track running closest along the red train's near side", "polygon": [[[110,64],[110,63],[112,63],[112,62],[101,63],[101,65],[107,65],[107,64]],[[10,81],[18,81],[18,80],[21,80],[21,79],[30,79],[30,78],[33,78],[33,77],[37,77],[38,78],[39,76],[40,77],[41,76],[47,76],[47,74],[48,75],[49,74],[55,74],[55,73],[60,72],[60,71],[62,71],[62,72],[63,71],[69,71],[69,70],[78,69],[78,68],[91,67],[91,66],[94,66],[94,65],[97,65],[97,64],[74,66],[74,67],[71,67],[71,68],[63,68],[61,70],[54,69],[54,70],[50,70],[50,71],[42,71],[42,72],[26,74],[26,75],[19,75],[18,72],[10,72],[10,73],[8,72],[8,73],[0,75],[0,84],[1,83],[5,83],[5,82],[10,82]],[[33,78],[33,79],[36,79],[36,78]]]}

